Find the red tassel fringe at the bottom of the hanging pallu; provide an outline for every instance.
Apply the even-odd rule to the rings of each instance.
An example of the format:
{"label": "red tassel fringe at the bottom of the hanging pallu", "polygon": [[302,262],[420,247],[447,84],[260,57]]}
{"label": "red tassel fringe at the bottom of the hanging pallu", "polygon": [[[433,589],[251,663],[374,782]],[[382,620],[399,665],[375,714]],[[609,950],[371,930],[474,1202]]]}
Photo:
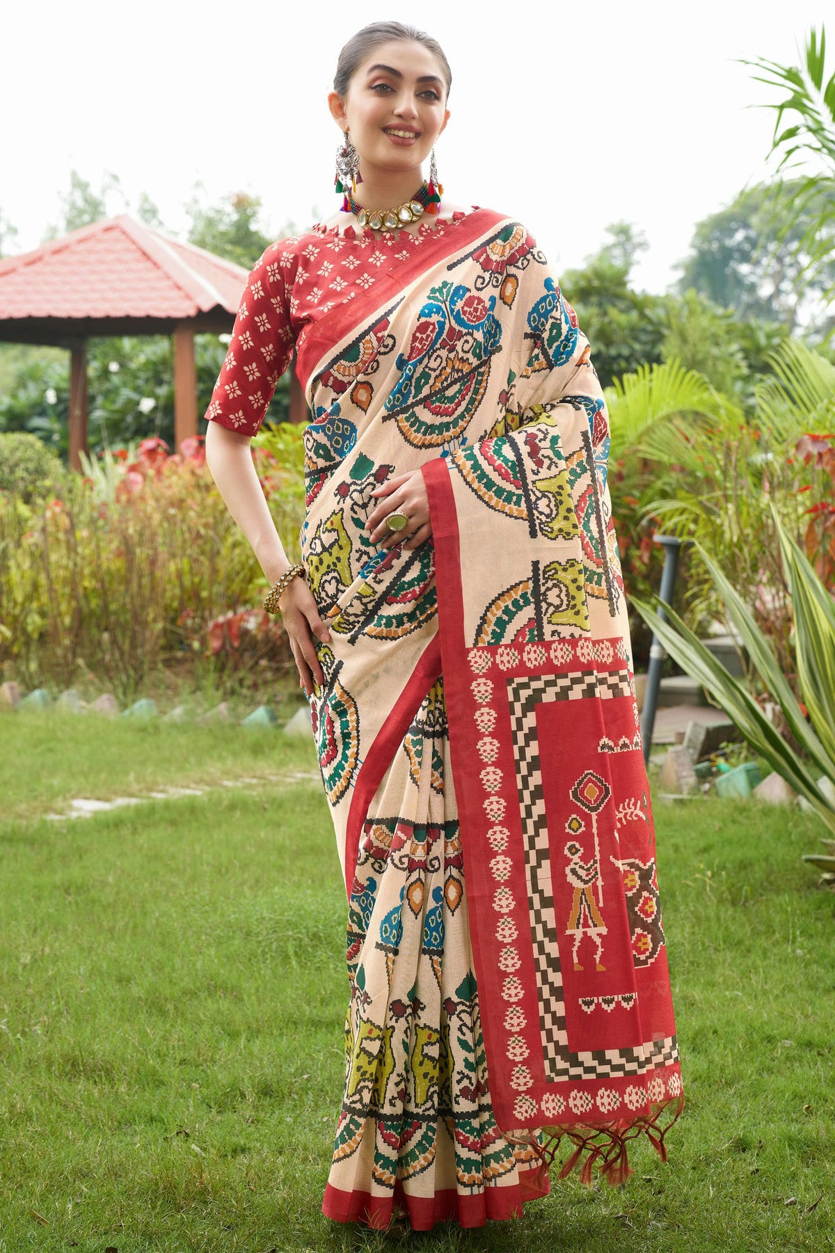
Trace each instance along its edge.
{"label": "red tassel fringe at the bottom of the hanging pallu", "polygon": [[[567,1139],[575,1145],[575,1149],[561,1167],[558,1178],[567,1179],[580,1165],[580,1182],[591,1185],[597,1165],[606,1182],[616,1188],[626,1183],[633,1173],[628,1164],[627,1145],[638,1135],[646,1135],[661,1160],[667,1160],[667,1146],[663,1138],[681,1114],[684,1105],[682,1094],[655,1105],[651,1116],[630,1123],[615,1121],[600,1125],[575,1123],[570,1126],[550,1125],[540,1128],[537,1131],[503,1134],[510,1144],[523,1144],[536,1153],[540,1159],[537,1183],[542,1187],[555,1164],[560,1145],[563,1139]],[[663,1126],[660,1126],[658,1119],[670,1113],[671,1106],[674,1108],[672,1116]]]}

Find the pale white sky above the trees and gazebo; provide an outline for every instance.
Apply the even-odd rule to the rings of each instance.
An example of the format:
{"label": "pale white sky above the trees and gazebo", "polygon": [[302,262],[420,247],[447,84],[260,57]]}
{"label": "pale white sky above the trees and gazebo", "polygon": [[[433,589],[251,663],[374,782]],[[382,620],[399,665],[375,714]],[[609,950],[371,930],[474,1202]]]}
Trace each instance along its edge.
{"label": "pale white sky above the trees and gazebo", "polygon": [[[184,234],[185,203],[237,190],[278,236],[337,207],[339,138],[325,96],[337,55],[366,21],[422,26],[452,65],[437,145],[458,203],[522,221],[560,271],[645,233],[637,287],[675,281],[694,224],[769,175],[777,99],[740,59],[799,64],[827,0],[481,0],[398,10],[334,0],[35,0],[0,18],[0,212],[36,247],[76,169],[108,172],[130,211],[141,192]],[[835,24],[834,26],[835,33]]]}

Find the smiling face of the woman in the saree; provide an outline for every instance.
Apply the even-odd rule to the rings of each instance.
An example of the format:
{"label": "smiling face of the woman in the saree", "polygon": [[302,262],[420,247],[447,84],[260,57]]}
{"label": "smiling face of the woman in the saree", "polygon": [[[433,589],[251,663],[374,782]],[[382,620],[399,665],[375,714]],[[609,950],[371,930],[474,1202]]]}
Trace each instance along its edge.
{"label": "smiling face of the woman in the saree", "polygon": [[328,103],[342,129],[351,130],[363,164],[407,170],[426,160],[446,127],[446,98],[429,49],[397,39],[378,44],[354,70],[348,94],[333,91]]}

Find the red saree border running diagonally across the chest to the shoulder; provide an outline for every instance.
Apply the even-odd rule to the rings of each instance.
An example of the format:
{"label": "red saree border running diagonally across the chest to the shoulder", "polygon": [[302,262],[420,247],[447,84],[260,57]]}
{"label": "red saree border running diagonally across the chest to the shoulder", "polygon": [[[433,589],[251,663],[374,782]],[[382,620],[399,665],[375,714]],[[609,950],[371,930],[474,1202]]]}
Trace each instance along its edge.
{"label": "red saree border running diagonally across the chest to the shoulder", "polygon": [[[507,214],[497,213],[494,209],[473,208],[469,213],[464,213],[459,218],[451,218],[449,222],[439,222],[437,227],[427,231],[426,234],[409,237],[419,239],[419,243],[411,243],[409,239],[406,241],[404,247],[412,248],[412,253],[402,262],[396,263],[393,254],[391,258],[387,258],[392,262],[392,264],[382,271],[382,274],[386,274],[388,278],[387,283],[382,283],[369,291],[368,299],[354,298],[337,304],[325,317],[315,322],[310,332],[304,336],[297,351],[295,375],[305,396],[308,396],[309,385],[317,375],[317,367],[322,362],[322,358],[325,356],[330,357],[337,351],[336,345],[342,343],[352,331],[359,332],[363,323],[367,323],[368,318],[373,317],[377,312],[382,316],[389,304],[399,303],[403,288],[408,287],[416,278],[419,278],[428,268],[437,266],[438,262],[446,261],[449,257],[454,257],[466,249],[467,246],[474,246],[482,236],[494,231],[502,222],[512,221]],[[408,232],[402,233],[408,236]],[[359,234],[361,232],[356,232],[353,238],[356,239]],[[324,234],[318,238],[324,242],[328,236]],[[372,243],[374,243],[373,239],[369,241],[368,247]],[[383,251],[384,248],[394,249],[398,247],[398,243],[399,241],[396,239],[391,244],[387,243],[382,247],[377,244],[377,251]]]}

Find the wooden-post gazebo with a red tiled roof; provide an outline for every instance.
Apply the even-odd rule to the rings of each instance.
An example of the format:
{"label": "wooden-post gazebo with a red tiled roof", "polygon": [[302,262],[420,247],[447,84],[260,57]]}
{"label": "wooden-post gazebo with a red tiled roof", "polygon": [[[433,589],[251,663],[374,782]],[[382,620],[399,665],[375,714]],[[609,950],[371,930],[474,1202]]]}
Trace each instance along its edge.
{"label": "wooden-post gazebo with a red tiled roof", "polygon": [[[174,336],[174,442],[197,434],[194,336],[232,330],[247,271],[126,214],[0,261],[0,340],[70,351],[69,461],[86,451],[86,341]],[[290,376],[290,417],[304,398]]]}

